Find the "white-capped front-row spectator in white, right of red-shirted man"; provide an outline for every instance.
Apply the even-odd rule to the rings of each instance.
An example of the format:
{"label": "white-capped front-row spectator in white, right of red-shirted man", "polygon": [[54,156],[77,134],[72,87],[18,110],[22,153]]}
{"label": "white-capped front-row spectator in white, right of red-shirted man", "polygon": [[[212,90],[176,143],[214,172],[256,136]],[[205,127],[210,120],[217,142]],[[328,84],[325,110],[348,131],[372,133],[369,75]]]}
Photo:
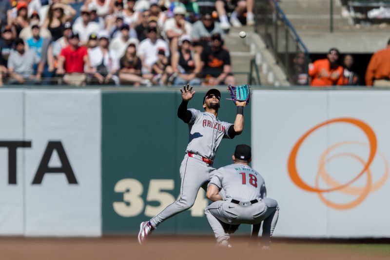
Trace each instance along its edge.
{"label": "white-capped front-row spectator in white, right of red-shirted man", "polygon": [[118,59],[114,51],[108,49],[110,35],[107,31],[101,31],[98,34],[98,47],[89,52],[91,67],[94,71],[94,77],[99,84],[108,84],[110,81],[119,84],[117,70],[119,69]]}

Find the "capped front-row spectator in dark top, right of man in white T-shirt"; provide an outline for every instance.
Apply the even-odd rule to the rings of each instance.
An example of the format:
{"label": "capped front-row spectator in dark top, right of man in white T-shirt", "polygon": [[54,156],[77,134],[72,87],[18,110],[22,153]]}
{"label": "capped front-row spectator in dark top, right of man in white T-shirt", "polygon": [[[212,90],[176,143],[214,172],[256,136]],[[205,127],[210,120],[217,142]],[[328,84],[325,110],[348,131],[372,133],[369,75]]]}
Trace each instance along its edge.
{"label": "capped front-row spectator in dark top, right of man in white T-shirt", "polygon": [[157,52],[157,60],[152,66],[152,74],[152,83],[155,85],[166,85],[168,78],[173,74],[172,66],[169,65],[168,57],[163,49]]}

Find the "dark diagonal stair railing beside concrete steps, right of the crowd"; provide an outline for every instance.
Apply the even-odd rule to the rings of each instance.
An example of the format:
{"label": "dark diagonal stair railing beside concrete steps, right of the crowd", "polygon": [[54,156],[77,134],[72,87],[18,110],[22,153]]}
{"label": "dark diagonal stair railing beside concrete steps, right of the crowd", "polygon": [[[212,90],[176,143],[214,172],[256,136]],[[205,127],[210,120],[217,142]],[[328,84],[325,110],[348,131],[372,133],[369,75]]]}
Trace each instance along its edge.
{"label": "dark diagonal stair railing beside concrete steps, right of the crowd", "polygon": [[255,32],[273,53],[293,85],[308,85],[309,51],[276,0],[256,0]]}

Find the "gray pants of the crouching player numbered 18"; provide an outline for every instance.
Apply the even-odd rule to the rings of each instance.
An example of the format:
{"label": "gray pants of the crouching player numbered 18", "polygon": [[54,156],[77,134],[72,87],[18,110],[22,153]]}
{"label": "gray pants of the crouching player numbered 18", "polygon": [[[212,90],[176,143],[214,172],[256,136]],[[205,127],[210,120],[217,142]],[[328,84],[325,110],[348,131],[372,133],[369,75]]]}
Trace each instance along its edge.
{"label": "gray pants of the crouching player numbered 18", "polygon": [[218,200],[206,207],[205,214],[214,231],[217,242],[227,240],[227,233],[221,222],[226,224],[259,224],[263,222],[262,243],[269,244],[279,217],[276,200],[265,198],[257,203],[241,202],[235,204],[229,200]]}

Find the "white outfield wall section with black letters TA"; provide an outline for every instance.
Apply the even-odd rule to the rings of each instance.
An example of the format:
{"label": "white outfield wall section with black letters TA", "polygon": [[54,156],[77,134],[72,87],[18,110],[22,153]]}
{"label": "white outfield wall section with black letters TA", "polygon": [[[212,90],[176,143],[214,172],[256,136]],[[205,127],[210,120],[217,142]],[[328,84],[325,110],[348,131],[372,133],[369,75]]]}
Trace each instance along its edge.
{"label": "white outfield wall section with black letters TA", "polygon": [[0,234],[101,235],[100,90],[1,90],[0,146],[17,148],[17,184],[0,147]]}

